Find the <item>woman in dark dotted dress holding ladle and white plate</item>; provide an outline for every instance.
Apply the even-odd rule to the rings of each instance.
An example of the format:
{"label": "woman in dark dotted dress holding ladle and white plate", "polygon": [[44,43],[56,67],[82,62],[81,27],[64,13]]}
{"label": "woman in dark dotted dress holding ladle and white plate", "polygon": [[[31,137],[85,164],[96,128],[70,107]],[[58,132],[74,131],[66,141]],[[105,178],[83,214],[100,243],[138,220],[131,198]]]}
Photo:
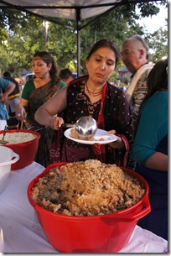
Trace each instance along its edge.
{"label": "woman in dark dotted dress holding ladle and white plate", "polygon": [[[132,112],[122,90],[108,82],[118,60],[119,53],[111,40],[97,41],[85,61],[88,75],[70,81],[69,86],[58,91],[35,112],[37,122],[61,133],[55,148],[51,149],[52,163],[98,159],[105,163],[127,165],[133,141]],[[117,141],[90,145],[65,138],[61,124],[75,123],[82,116],[96,119],[98,128],[110,133],[115,130]]]}

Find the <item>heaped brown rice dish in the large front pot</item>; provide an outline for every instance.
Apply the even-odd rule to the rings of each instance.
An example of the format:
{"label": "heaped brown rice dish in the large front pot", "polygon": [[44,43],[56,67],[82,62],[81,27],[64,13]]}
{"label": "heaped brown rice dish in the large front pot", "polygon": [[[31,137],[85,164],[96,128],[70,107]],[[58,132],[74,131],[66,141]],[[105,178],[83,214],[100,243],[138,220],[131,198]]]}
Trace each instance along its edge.
{"label": "heaped brown rice dish in the large front pot", "polygon": [[33,200],[51,212],[69,216],[94,216],[124,210],[142,199],[140,180],[117,165],[95,159],[57,166],[39,178]]}

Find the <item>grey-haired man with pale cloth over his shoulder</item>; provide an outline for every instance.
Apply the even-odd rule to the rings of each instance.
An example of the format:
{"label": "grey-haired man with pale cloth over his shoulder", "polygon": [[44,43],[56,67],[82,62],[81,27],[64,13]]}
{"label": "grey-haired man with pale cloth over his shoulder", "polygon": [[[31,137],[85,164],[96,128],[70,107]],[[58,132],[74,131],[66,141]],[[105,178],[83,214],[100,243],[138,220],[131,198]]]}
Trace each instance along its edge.
{"label": "grey-haired man with pale cloth over his shoulder", "polygon": [[123,63],[132,73],[126,95],[136,122],[139,108],[148,91],[147,77],[153,64],[148,63],[148,44],[139,35],[134,35],[122,43],[121,55]]}

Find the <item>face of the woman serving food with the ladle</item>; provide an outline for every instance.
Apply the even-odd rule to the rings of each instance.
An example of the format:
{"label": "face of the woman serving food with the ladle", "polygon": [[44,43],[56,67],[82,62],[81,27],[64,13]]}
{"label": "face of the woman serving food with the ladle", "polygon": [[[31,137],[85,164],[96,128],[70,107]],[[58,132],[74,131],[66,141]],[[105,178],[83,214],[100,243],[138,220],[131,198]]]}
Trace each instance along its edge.
{"label": "face of the woman serving food with the ladle", "polygon": [[116,55],[108,47],[99,48],[86,60],[89,79],[97,84],[104,84],[112,75],[115,66]]}

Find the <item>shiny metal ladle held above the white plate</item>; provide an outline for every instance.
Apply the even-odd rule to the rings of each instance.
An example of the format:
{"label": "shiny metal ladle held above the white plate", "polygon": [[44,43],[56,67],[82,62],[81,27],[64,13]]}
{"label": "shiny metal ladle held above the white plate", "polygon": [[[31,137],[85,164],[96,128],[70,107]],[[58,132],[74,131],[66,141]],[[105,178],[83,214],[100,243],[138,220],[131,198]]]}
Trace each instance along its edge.
{"label": "shiny metal ladle held above the white plate", "polygon": [[76,123],[64,123],[61,125],[62,128],[74,127],[75,132],[79,138],[93,138],[97,130],[97,123],[94,118],[90,116],[85,116],[79,118]]}

